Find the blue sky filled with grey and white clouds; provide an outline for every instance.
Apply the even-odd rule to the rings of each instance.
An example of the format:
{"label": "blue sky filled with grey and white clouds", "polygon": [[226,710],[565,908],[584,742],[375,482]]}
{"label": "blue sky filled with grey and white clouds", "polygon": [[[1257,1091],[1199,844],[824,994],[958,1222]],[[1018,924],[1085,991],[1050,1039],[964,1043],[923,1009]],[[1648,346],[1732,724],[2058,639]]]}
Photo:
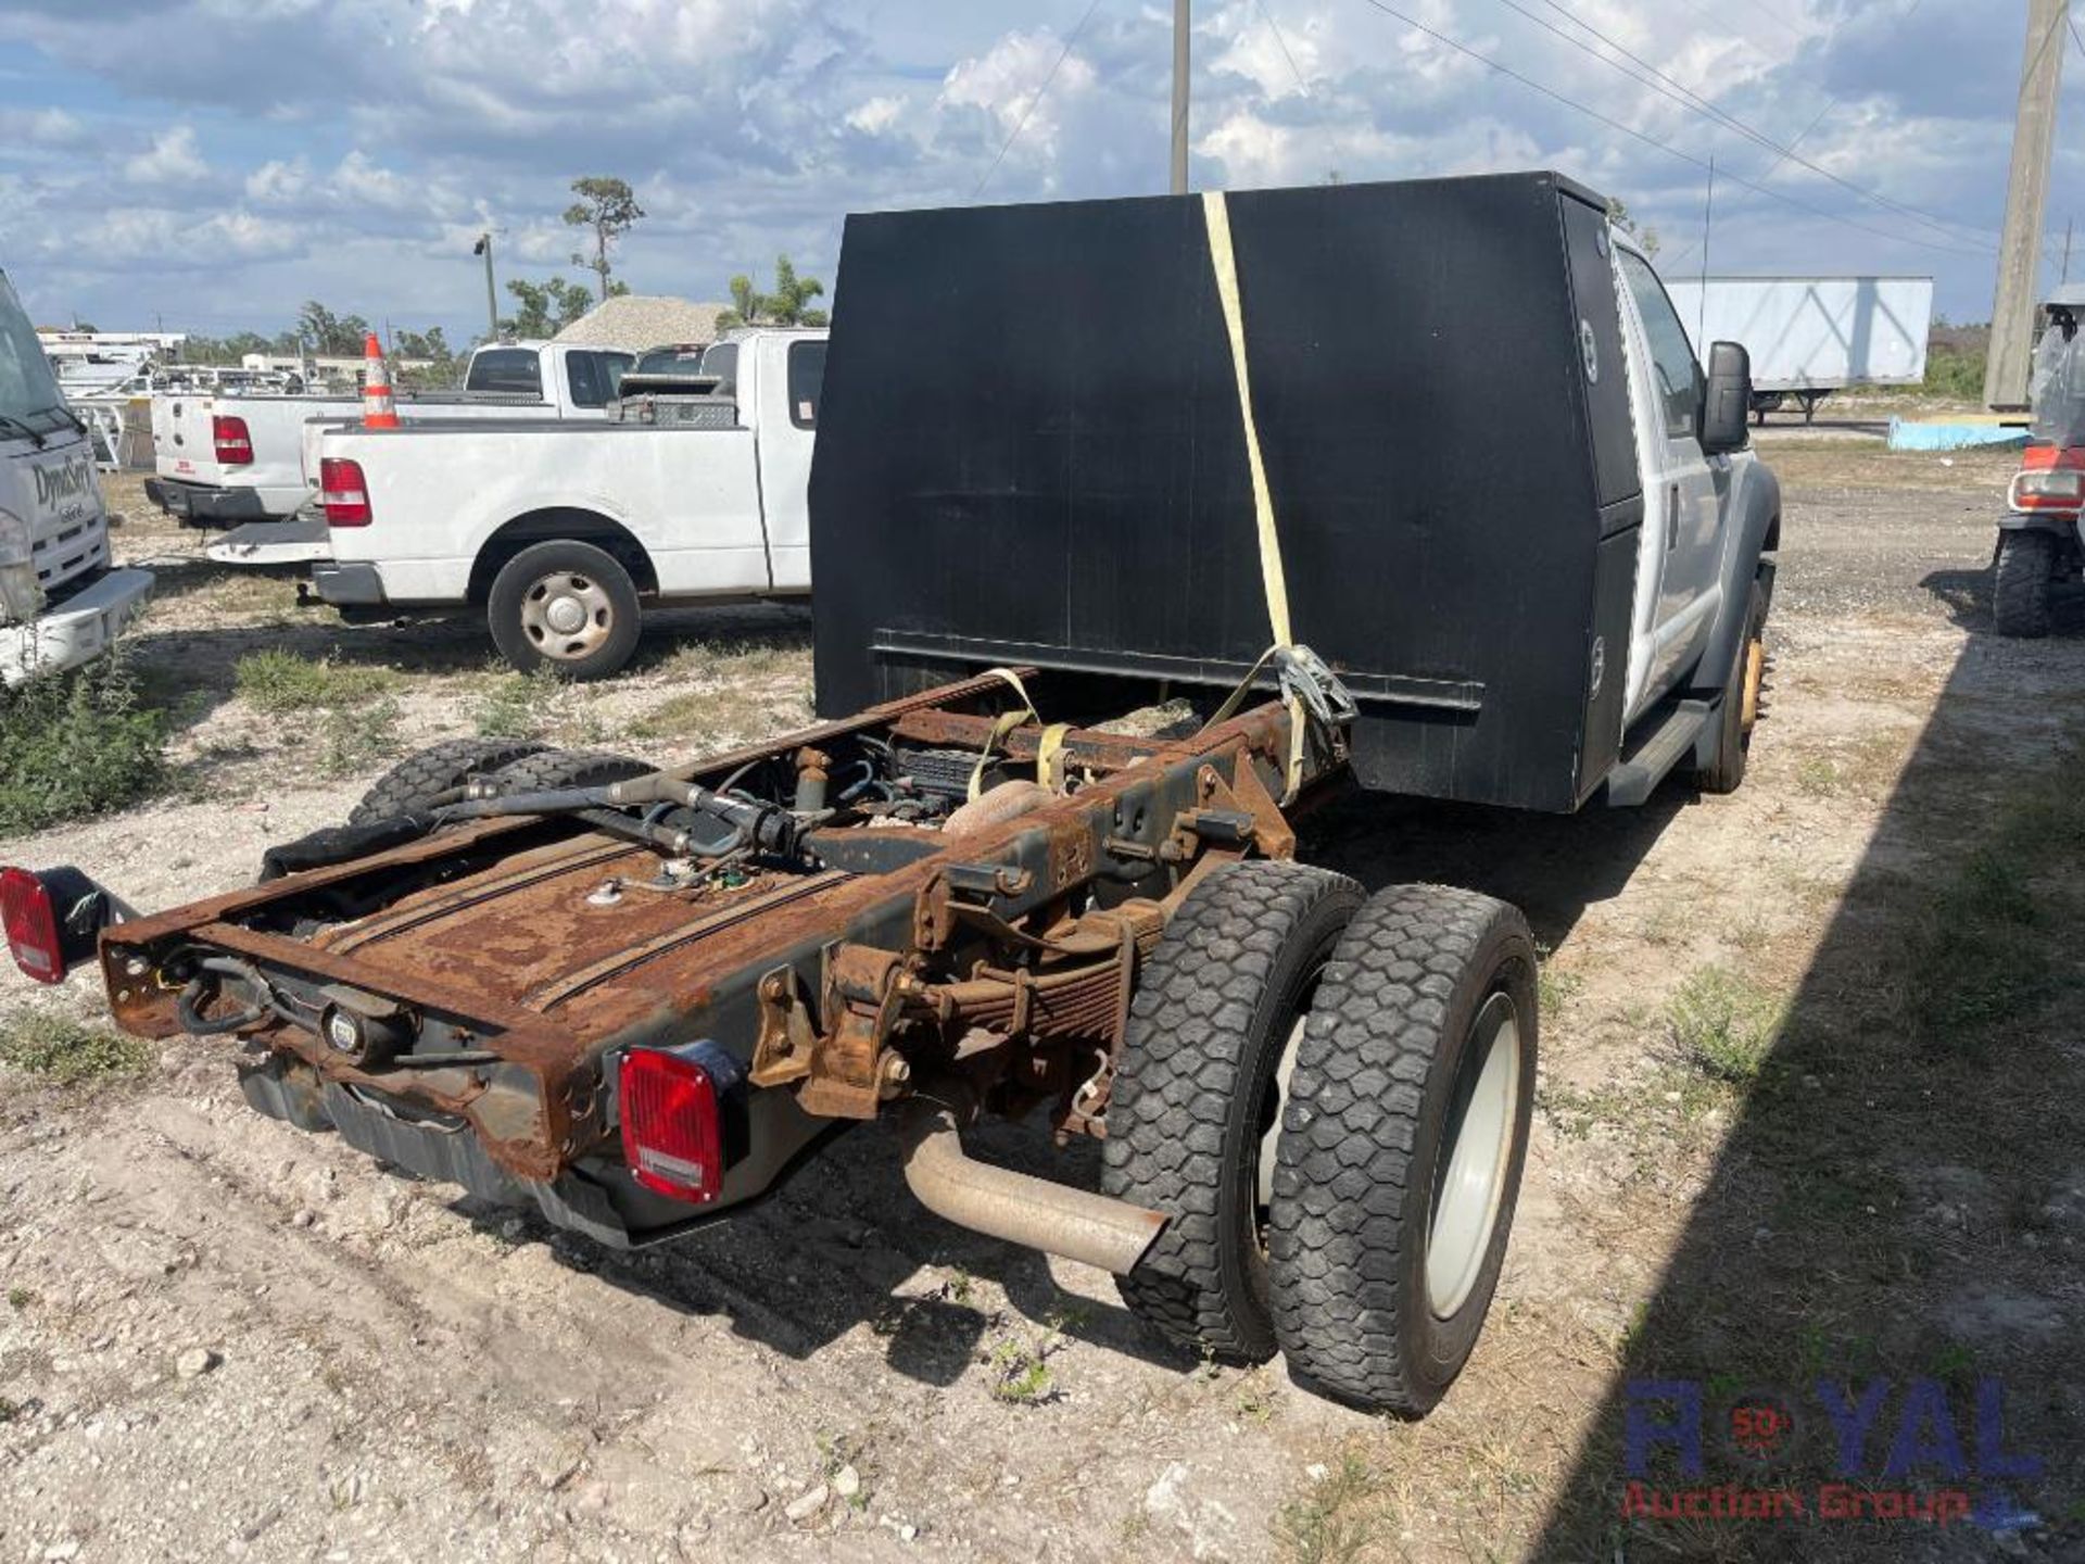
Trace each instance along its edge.
{"label": "blue sky filled with grey and white clouds", "polygon": [[[1195,0],[1193,177],[1557,167],[1695,271],[1714,158],[1712,269],[1933,273],[1985,319],[2025,10]],[[502,277],[584,279],[567,184],[615,173],[638,292],[719,298],[778,250],[830,279],[847,211],[1163,190],[1170,27],[1155,0],[0,0],[0,265],[46,323],[277,332],[319,298],[461,340],[475,234],[505,229]],[[2085,275],[2064,46],[2050,279],[2072,209]]]}

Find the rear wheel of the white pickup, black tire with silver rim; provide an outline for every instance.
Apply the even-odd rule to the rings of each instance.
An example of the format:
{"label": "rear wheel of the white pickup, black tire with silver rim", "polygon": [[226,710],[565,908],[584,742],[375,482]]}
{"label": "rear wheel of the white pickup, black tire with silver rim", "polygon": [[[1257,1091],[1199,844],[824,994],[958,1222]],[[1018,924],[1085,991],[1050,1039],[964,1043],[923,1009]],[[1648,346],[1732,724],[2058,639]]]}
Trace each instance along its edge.
{"label": "rear wheel of the white pickup, black tire with silver rim", "polygon": [[[578,615],[561,621],[561,603]],[[638,649],[638,588],[613,555],[590,542],[538,542],[492,578],[486,621],[500,657],[534,674],[603,680]],[[563,632],[563,634],[559,634]]]}

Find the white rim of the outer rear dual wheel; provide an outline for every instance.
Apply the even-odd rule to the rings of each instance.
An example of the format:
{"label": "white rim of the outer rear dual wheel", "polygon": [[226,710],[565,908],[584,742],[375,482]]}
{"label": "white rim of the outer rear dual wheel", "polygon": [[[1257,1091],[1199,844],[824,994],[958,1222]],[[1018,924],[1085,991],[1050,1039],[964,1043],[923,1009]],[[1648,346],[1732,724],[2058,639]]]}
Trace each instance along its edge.
{"label": "white rim of the outer rear dual wheel", "polygon": [[1495,993],[1476,1013],[1449,1093],[1449,1122],[1426,1222],[1426,1303],[1449,1320],[1470,1301],[1505,1199],[1520,1105],[1520,1011]]}

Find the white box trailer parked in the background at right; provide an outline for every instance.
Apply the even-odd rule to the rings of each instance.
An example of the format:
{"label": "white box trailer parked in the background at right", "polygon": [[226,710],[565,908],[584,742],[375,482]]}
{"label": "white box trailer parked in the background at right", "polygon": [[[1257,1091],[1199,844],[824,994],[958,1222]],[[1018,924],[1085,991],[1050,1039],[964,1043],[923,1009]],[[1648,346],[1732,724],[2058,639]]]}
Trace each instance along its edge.
{"label": "white box trailer parked in the background at right", "polygon": [[1847,386],[1916,386],[1927,377],[1933,277],[1666,277],[1693,336],[1751,352],[1751,409],[1787,400],[1804,421]]}

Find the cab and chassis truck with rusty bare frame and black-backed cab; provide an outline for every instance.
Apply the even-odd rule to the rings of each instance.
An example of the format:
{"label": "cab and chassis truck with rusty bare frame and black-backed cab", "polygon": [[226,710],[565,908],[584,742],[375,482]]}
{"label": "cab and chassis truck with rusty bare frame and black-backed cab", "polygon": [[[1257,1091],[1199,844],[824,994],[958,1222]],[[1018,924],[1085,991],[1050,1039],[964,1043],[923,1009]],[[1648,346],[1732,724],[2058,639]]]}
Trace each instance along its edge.
{"label": "cab and chassis truck with rusty bare frame and black-backed cab", "polygon": [[[1537,949],[1295,822],[1737,786],[1779,532],[1743,350],[1701,373],[1547,173],[853,217],[840,279],[824,722],[667,772],[438,744],[156,915],[8,870],[17,961],[613,1247],[882,1122],[942,1218],[1422,1414],[1505,1253]],[[974,1159],[986,1114],[1101,1139],[1099,1189]]]}

